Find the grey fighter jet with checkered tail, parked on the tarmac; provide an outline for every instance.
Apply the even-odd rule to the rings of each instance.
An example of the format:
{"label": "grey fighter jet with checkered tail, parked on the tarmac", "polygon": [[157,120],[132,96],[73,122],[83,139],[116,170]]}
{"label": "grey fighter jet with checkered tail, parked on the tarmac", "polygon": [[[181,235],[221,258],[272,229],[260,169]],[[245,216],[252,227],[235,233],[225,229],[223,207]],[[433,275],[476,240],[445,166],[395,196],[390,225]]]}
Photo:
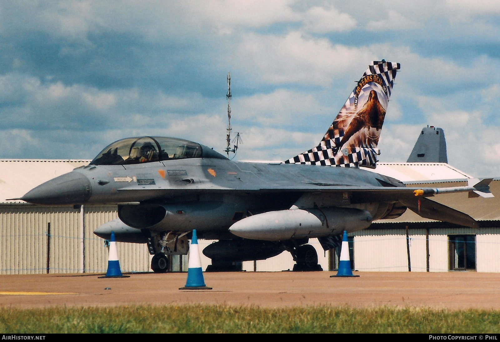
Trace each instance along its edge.
{"label": "grey fighter jet with checkered tail, parked on the tarmac", "polygon": [[[399,63],[373,61],[357,82],[317,146],[283,162],[229,160],[202,144],[160,136],[121,139],[88,165],[53,178],[21,199],[35,204],[116,203],[119,219],[95,233],[147,243],[151,268],[168,269],[168,254],[186,254],[192,229],[217,239],[203,253],[213,267],[265,259],[287,250],[299,270],[318,269],[317,237],[323,248],[335,236],[372,221],[400,216],[407,208],[422,217],[477,227],[470,216],[428,199],[465,191],[491,197],[491,179],[468,186],[406,187],[375,168],[378,138]],[[286,138],[286,137],[283,137]]]}

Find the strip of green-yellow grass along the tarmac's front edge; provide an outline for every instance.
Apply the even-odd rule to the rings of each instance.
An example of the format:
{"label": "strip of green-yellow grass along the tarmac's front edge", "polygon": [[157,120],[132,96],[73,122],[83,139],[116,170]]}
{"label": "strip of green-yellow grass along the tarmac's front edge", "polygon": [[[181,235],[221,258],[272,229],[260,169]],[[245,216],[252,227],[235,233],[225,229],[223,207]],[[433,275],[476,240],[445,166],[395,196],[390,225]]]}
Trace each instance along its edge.
{"label": "strip of green-yellow grass along the tarmac's front edge", "polygon": [[0,308],[0,333],[500,332],[500,311],[428,308],[115,306]]}

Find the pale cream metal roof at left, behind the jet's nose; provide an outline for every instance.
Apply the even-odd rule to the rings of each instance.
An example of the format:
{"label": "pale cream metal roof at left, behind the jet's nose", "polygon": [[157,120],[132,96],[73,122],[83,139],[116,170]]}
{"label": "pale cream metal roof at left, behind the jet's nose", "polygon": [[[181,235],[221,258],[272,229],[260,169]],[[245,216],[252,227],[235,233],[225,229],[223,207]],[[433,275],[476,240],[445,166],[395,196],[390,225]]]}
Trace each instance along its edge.
{"label": "pale cream metal roof at left, behind the jet's nose", "polygon": [[0,203],[25,203],[19,198],[33,187],[86,165],[86,159],[0,159]]}

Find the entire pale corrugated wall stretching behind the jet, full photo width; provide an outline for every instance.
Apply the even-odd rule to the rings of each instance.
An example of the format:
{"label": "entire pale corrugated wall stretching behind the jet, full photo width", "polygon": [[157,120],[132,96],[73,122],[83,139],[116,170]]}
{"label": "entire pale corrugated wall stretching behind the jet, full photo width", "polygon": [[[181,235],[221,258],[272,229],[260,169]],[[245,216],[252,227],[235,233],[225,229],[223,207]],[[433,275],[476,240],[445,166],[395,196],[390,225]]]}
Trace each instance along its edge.
{"label": "entire pale corrugated wall stretching behind the jet, full photo width", "polygon": [[[84,232],[81,213],[71,207],[43,207],[22,204],[0,205],[0,274],[45,273],[47,260],[47,225],[50,222],[50,272],[105,272],[108,251],[104,240],[93,230],[117,217],[115,206],[85,206]],[[476,235],[476,270],[500,272],[500,228],[431,228],[429,229],[429,270],[448,270],[448,235]],[[84,235],[84,236],[83,236]],[[363,271],[407,271],[405,229],[365,229],[354,234],[354,266]],[[210,241],[200,243],[202,247]],[[409,230],[411,271],[426,271],[425,229]],[[327,257],[316,239],[310,243],[318,251],[319,263],[328,269]],[[122,271],[149,271],[150,255],[146,244],[117,243]],[[201,254],[204,266],[210,260]],[[174,256],[172,270],[178,270]],[[182,260],[187,270],[187,258]],[[245,262],[252,270],[253,262]],[[257,261],[257,270],[278,271],[292,268],[288,252]]]}

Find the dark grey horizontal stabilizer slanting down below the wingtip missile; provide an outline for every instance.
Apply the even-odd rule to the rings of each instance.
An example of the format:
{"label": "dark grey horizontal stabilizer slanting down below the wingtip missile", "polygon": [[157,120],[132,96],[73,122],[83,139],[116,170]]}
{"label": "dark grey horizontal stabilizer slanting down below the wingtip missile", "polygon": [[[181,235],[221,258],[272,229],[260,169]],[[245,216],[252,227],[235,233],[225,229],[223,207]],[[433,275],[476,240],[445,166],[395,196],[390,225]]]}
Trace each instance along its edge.
{"label": "dark grey horizontal stabilizer slanting down below the wingtip missile", "polygon": [[479,228],[479,223],[466,213],[450,208],[444,204],[434,202],[428,198],[404,198],[399,201],[421,217]]}

